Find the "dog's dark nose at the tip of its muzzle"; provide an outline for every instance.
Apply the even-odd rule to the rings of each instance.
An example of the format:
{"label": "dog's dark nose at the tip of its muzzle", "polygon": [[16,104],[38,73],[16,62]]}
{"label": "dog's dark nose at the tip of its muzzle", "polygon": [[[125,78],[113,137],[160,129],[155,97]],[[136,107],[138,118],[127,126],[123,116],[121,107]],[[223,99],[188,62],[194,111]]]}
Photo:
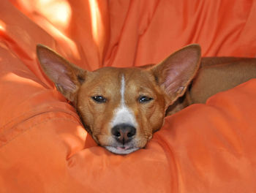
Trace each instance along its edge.
{"label": "dog's dark nose at the tip of its muzzle", "polygon": [[132,137],[136,134],[136,129],[129,124],[118,124],[112,128],[111,133],[118,142],[124,144],[132,140]]}

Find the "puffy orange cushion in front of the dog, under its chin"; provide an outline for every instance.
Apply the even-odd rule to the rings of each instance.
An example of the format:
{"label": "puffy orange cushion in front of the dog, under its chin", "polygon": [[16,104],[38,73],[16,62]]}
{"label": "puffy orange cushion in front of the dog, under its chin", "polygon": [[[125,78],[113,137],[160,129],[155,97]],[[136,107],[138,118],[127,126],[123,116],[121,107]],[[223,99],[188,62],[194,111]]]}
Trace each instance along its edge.
{"label": "puffy orange cushion in front of the dog, under its chin", "polygon": [[63,96],[1,47],[1,192],[249,192],[256,80],[166,118],[145,149],[98,147]]}

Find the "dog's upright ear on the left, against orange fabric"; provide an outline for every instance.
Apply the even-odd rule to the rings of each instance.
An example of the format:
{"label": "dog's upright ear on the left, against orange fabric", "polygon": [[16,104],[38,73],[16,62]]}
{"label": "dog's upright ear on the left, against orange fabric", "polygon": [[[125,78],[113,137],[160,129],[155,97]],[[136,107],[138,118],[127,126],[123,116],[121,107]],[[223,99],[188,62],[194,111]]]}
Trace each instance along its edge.
{"label": "dog's upright ear on the left, against orange fabric", "polygon": [[56,88],[73,102],[75,93],[85,80],[86,70],[69,63],[45,45],[37,45],[37,58],[43,71],[53,81]]}

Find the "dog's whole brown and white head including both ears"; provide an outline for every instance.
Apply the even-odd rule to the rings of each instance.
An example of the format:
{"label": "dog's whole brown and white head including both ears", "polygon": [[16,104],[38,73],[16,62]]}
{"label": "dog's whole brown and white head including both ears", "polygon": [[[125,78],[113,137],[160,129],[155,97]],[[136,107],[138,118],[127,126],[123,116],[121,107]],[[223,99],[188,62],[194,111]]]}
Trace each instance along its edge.
{"label": "dog's whole brown and white head including both ears", "polygon": [[105,67],[94,72],[38,45],[42,69],[78,111],[86,130],[115,154],[143,148],[161,128],[167,107],[184,94],[200,64],[190,45],[149,68]]}

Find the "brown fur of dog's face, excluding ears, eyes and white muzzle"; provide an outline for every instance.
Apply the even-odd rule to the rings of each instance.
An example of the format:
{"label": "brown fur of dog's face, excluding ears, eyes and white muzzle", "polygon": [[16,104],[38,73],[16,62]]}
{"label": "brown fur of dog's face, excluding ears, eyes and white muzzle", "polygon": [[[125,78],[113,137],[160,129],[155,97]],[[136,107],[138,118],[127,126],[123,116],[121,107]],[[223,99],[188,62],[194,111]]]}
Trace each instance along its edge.
{"label": "brown fur of dog's face, excluding ears, eyes and white muzzle", "polygon": [[[92,77],[86,77],[86,82],[78,91],[75,107],[84,123],[89,126],[94,140],[100,145],[107,145],[109,142],[105,136],[111,135],[108,121],[113,118],[113,109],[119,105],[117,102],[120,101],[120,84],[116,83],[121,82],[121,75],[125,75],[127,80],[125,102],[128,107],[134,110],[135,117],[139,120],[139,127],[142,128],[138,129],[138,138],[140,138],[141,143],[138,146],[143,147],[147,140],[151,139],[152,133],[162,126],[165,116],[165,99],[162,91],[156,88],[154,77],[148,72],[139,68],[107,67],[98,69]],[[91,96],[95,95],[105,96],[108,103],[97,104],[93,102]],[[158,102],[141,106],[138,102],[134,102],[137,101],[139,95],[152,96]]]}

